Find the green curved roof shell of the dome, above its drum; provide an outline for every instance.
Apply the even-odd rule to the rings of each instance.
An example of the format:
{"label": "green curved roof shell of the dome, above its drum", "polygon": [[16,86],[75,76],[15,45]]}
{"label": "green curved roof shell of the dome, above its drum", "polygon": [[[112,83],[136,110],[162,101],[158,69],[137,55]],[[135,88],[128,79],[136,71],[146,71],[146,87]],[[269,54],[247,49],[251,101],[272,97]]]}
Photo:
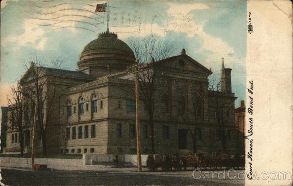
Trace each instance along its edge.
{"label": "green curved roof shell of the dome, above its drum", "polygon": [[130,52],[131,54],[133,54],[133,51],[125,42],[119,40],[116,34],[109,33],[109,32],[100,34],[99,38],[88,43],[84,47],[83,52],[89,51],[89,50],[99,50],[99,49],[121,50],[121,51]]}

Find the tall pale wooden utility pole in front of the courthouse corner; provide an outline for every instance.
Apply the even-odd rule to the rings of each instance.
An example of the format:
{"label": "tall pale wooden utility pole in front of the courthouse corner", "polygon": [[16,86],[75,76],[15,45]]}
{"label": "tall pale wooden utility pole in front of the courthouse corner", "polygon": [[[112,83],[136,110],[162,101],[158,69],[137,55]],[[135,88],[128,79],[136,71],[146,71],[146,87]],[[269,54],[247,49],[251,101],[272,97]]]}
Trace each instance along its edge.
{"label": "tall pale wooden utility pole in front of the courthouse corner", "polygon": [[[138,73],[138,72],[137,72]],[[136,113],[136,147],[137,147],[137,171],[142,171],[142,159],[140,153],[140,127],[139,127],[139,85],[138,74],[135,73],[135,113]]]}

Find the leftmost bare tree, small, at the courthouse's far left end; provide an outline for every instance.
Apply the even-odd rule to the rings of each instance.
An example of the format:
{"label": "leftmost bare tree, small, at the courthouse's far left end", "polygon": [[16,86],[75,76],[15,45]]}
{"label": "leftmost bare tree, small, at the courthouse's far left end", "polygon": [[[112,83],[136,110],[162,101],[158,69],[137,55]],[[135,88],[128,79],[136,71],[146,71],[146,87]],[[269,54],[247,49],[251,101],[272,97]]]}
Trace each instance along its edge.
{"label": "leftmost bare tree, small, at the courthouse's far left end", "polygon": [[28,107],[29,101],[25,100],[20,83],[10,87],[11,96],[8,98],[8,120],[11,125],[8,126],[12,131],[19,132],[19,143],[21,156],[24,153],[24,135],[30,128],[30,112],[33,112],[34,107]]}

